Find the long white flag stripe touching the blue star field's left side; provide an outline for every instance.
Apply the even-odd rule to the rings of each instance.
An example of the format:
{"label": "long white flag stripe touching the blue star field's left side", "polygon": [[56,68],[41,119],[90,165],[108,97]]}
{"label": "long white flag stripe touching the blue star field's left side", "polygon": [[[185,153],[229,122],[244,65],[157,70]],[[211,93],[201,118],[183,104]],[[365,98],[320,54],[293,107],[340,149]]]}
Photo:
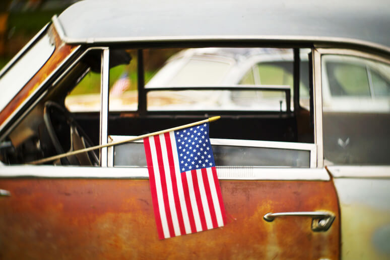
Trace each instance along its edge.
{"label": "long white flag stripe touching the blue star field's left side", "polygon": [[180,171],[180,164],[179,164],[179,155],[177,154],[175,132],[174,131],[169,132],[169,136],[170,136],[171,145],[172,145],[173,162],[175,164],[175,172],[176,172],[177,193],[179,195],[179,201],[180,201],[181,213],[183,215],[185,233],[189,234],[189,233],[191,233],[191,226],[189,224],[187,206],[185,205],[183,181],[181,180],[181,171]]}

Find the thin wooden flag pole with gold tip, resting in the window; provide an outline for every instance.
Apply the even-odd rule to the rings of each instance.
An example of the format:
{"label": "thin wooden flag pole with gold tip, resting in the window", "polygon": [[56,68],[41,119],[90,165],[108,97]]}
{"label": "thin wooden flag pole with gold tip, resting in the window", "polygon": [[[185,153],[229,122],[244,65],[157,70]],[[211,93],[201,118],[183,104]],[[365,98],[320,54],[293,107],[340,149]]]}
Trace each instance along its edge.
{"label": "thin wooden flag pole with gold tip, resting in the window", "polygon": [[71,152],[66,152],[66,153],[50,156],[50,157],[47,157],[47,158],[43,158],[43,159],[39,159],[39,160],[28,162],[27,164],[40,164],[40,163],[44,163],[44,162],[48,162],[48,161],[53,161],[53,160],[56,160],[56,159],[60,159],[60,158],[63,158],[63,157],[67,157],[67,156],[71,156],[71,155],[75,155],[75,154],[79,154],[79,153],[83,153],[83,152],[89,152],[89,151],[92,151],[92,150],[96,150],[96,149],[100,149],[100,148],[104,148],[104,147],[108,147],[108,146],[113,146],[113,145],[117,145],[117,144],[122,144],[122,143],[136,141],[136,140],[143,139],[145,137],[149,137],[149,136],[153,136],[153,135],[158,135],[158,134],[163,134],[163,133],[167,133],[167,132],[171,132],[171,131],[176,131],[176,130],[180,130],[180,129],[191,127],[191,126],[200,125],[200,124],[207,123],[207,122],[213,122],[213,121],[216,121],[216,120],[218,120],[220,118],[221,118],[221,116],[210,117],[208,119],[201,120],[201,121],[198,121],[198,122],[193,122],[193,123],[182,125],[182,126],[176,126],[176,127],[173,127],[173,128],[169,128],[169,129],[166,129],[166,130],[161,130],[161,131],[157,131],[157,132],[153,132],[153,133],[149,133],[149,134],[139,135],[139,136],[136,136],[136,137],[129,138],[127,140],[122,140],[122,141],[117,141],[117,142],[112,142],[112,143],[107,143],[107,144],[91,146],[91,147],[80,149],[80,150],[76,150],[76,151],[71,151]]}

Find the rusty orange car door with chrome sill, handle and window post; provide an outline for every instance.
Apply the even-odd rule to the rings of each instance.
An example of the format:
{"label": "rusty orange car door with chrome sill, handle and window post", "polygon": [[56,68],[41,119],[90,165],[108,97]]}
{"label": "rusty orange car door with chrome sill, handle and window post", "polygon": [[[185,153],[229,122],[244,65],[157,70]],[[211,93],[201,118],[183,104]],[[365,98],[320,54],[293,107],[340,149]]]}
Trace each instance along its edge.
{"label": "rusty orange car door with chrome sill, handle and window post", "polygon": [[[110,140],[108,56],[104,49],[101,144]],[[327,170],[317,167],[318,140],[305,144],[212,139],[215,153],[233,147],[235,157],[242,158],[246,150],[260,149],[264,156],[273,152],[276,161],[265,157],[259,162],[257,156],[253,163],[236,159],[219,165],[226,226],[164,240],[157,235],[147,168],[115,162],[116,156],[130,155],[125,149],[103,150],[99,167],[2,166],[0,255],[338,259],[338,199]],[[304,159],[291,164],[290,157]]]}

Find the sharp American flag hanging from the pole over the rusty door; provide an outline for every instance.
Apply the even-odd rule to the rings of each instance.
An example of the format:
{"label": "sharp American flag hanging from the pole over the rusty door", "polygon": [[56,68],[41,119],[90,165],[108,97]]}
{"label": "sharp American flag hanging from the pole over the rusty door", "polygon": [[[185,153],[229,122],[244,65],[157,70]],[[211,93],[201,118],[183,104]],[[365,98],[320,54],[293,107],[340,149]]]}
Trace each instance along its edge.
{"label": "sharp American flag hanging from the pole over the rusty door", "polygon": [[160,239],[224,226],[209,123],[144,138]]}

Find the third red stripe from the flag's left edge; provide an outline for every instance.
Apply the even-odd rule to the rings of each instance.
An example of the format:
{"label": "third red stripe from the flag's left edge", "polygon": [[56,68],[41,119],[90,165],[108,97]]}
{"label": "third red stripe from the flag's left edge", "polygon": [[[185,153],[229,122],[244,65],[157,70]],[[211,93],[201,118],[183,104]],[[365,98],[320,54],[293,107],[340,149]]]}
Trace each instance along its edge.
{"label": "third red stripe from the flag's left edge", "polygon": [[180,200],[179,200],[179,192],[178,192],[178,189],[177,189],[175,162],[173,160],[173,151],[172,151],[172,145],[171,145],[171,138],[170,138],[169,133],[165,133],[164,137],[165,137],[165,143],[166,143],[166,146],[167,146],[167,155],[168,155],[169,169],[170,169],[170,172],[171,172],[172,190],[173,190],[173,198],[175,199],[177,220],[179,221],[180,233],[182,235],[184,235],[185,234],[184,220],[183,220],[183,214],[182,214],[182,211],[181,211],[181,205],[180,205]]}

